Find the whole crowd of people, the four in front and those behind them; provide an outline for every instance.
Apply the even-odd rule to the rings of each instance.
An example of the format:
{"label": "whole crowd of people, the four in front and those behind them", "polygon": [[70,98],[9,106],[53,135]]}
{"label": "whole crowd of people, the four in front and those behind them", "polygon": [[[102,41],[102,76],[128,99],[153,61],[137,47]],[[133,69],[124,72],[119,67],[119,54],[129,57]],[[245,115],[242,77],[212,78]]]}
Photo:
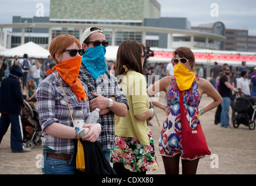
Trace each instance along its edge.
{"label": "whole crowd of people, the four in front and those behind them", "polygon": [[[145,175],[159,168],[148,124],[156,114],[156,106],[167,116],[159,139],[166,174],[179,174],[180,158],[183,174],[195,174],[199,159],[207,154],[184,156],[180,108],[184,107],[193,131],[200,125],[199,116],[217,106],[217,112],[221,110],[221,126],[229,127],[229,106],[236,88],[245,94],[256,89],[256,68],[248,76],[244,62],[232,72],[226,64],[220,67],[215,62],[211,81],[207,81],[203,66],[195,66],[190,48],[177,48],[170,63],[153,66],[147,62],[144,45],[136,40],[123,41],[113,63],[105,59],[106,47],[104,31],[90,27],[81,36],[81,42],[69,34],[54,38],[49,44],[51,55],[42,65],[26,53],[22,59],[15,56],[10,62],[1,57],[0,142],[11,123],[12,152],[29,151],[22,144],[20,127],[24,99],[37,102],[44,134],[43,174],[76,174],[77,161],[81,160],[77,158],[79,144],[89,158],[95,155],[95,145],[99,144],[97,153],[104,155],[107,163],[113,163],[116,174]],[[158,75],[159,79],[148,84],[144,75]],[[165,92],[166,105],[154,100],[159,91]],[[198,108],[203,94],[214,101]],[[93,110],[99,110],[97,122],[86,123]],[[217,117],[215,124],[216,120]],[[76,122],[82,125],[77,127]]]}

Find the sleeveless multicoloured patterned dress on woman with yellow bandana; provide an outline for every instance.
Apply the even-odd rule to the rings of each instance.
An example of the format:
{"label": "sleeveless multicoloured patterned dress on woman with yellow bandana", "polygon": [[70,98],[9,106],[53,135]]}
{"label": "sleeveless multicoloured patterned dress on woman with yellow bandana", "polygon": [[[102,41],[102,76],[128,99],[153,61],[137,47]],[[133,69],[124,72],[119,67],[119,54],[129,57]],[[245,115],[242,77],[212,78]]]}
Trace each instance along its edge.
{"label": "sleeveless multicoloured patterned dress on woman with yellow bandana", "polygon": [[[195,77],[191,88],[183,95],[183,102],[187,110],[187,119],[190,127],[194,130],[200,123],[198,105],[200,103],[200,95],[198,92],[198,77]],[[177,87],[175,77],[172,78],[168,94],[166,95],[166,102],[168,105],[168,117],[163,121],[163,127],[159,138],[159,151],[162,156],[175,156],[178,153],[183,158],[182,146],[182,124],[180,123],[180,98],[179,88]],[[205,155],[187,158],[194,160],[197,158],[204,158]]]}

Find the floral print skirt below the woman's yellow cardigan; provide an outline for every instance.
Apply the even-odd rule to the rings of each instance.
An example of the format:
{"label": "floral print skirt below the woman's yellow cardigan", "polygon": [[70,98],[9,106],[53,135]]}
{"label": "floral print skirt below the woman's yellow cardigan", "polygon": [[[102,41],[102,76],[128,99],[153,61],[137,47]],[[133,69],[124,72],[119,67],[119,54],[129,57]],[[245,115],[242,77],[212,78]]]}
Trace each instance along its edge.
{"label": "floral print skirt below the woman's yellow cardigan", "polygon": [[115,149],[111,151],[111,162],[123,163],[123,166],[131,172],[157,170],[154,140],[148,126],[147,134],[150,145],[142,145],[140,141],[131,137],[116,136]]}

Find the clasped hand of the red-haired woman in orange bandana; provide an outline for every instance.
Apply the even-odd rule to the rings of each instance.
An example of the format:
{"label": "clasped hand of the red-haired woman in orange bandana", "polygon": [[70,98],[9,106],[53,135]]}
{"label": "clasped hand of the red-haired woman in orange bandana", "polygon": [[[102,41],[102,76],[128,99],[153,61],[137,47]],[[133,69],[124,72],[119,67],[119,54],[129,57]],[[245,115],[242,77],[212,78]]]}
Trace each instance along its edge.
{"label": "clasped hand of the red-haired woman in orange bandana", "polygon": [[98,139],[99,134],[101,133],[101,126],[99,126],[98,124],[85,124],[83,127],[89,128],[89,132],[84,135],[82,140],[95,142]]}

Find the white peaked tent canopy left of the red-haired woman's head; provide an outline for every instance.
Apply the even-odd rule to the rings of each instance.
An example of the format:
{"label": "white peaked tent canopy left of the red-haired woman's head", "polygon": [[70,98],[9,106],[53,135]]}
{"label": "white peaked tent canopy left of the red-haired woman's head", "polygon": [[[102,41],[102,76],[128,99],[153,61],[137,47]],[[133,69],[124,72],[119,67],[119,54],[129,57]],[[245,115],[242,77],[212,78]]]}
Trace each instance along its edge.
{"label": "white peaked tent canopy left of the red-haired woman's head", "polygon": [[40,45],[37,45],[31,41],[24,45],[20,45],[19,47],[14,47],[0,52],[0,55],[8,58],[13,58],[15,55],[17,55],[19,58],[23,58],[24,53],[27,53],[29,58],[47,59],[49,55],[49,51],[47,49],[42,48]]}

